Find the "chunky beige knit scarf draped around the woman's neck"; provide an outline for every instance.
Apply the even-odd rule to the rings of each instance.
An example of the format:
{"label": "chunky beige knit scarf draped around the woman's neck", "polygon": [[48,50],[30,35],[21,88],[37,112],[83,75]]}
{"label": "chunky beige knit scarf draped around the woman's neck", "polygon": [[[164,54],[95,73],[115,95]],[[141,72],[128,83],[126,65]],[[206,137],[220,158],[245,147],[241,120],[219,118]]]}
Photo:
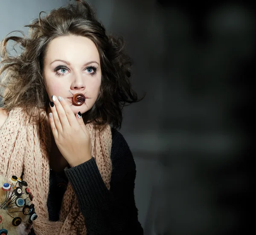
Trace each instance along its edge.
{"label": "chunky beige knit scarf draped around the woman's neck", "polygon": [[[41,111],[40,115],[45,115]],[[93,124],[87,124],[92,142],[92,155],[96,159],[99,172],[107,188],[111,178],[111,128],[107,126],[99,132]],[[0,174],[6,178],[21,176],[28,182],[34,195],[33,203],[38,218],[33,222],[36,235],[86,234],[84,217],[79,211],[76,195],[70,183],[61,205],[60,219],[49,221],[47,197],[49,192],[49,152],[50,127],[48,119],[36,124],[29,121],[28,115],[17,108],[9,113],[0,128]],[[61,199],[60,199],[61,200]]]}

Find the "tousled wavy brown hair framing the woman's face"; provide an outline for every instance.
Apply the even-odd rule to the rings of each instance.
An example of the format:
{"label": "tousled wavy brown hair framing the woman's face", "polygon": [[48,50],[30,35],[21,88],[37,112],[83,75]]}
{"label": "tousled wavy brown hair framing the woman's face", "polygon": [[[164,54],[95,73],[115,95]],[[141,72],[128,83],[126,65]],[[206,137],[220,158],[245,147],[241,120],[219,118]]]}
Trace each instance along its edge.
{"label": "tousled wavy brown hair framing the woman's face", "polygon": [[[99,51],[102,83],[96,103],[83,119],[85,123],[94,121],[99,125],[111,124],[120,128],[122,108],[141,100],[131,89],[131,59],[124,51],[122,37],[107,35],[93,9],[83,0],[53,9],[44,17],[41,13],[38,19],[27,25],[28,37],[21,32],[23,37],[9,36],[1,42],[0,85],[4,108],[10,111],[22,107],[30,116],[37,108],[47,108],[49,97],[42,74],[49,42],[61,36],[84,36],[92,40]],[[21,54],[10,55],[7,50],[9,41],[21,46]]]}

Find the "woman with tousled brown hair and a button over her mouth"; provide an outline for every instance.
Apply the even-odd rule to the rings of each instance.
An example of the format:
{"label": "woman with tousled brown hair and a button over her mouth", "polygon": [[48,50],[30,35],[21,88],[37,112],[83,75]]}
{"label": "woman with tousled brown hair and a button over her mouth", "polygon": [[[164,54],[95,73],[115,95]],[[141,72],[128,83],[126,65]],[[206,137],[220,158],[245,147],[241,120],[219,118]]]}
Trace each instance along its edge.
{"label": "woman with tousled brown hair and a button over her mouth", "polygon": [[[131,63],[122,40],[76,2],[39,16],[29,37],[2,42],[0,170],[29,183],[31,234],[143,234],[134,159],[115,129],[138,101]],[[9,56],[10,40],[20,55]]]}

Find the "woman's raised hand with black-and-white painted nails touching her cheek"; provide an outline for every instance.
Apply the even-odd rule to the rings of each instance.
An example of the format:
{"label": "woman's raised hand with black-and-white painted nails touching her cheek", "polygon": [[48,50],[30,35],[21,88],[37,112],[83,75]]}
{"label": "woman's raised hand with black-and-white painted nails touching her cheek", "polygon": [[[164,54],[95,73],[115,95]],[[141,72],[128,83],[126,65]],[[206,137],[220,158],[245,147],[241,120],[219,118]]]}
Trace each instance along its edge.
{"label": "woman's raised hand with black-and-white painted nails touching her cheek", "polygon": [[55,143],[71,167],[92,158],[90,133],[81,114],[74,115],[68,103],[61,97],[52,96],[54,103],[49,121]]}

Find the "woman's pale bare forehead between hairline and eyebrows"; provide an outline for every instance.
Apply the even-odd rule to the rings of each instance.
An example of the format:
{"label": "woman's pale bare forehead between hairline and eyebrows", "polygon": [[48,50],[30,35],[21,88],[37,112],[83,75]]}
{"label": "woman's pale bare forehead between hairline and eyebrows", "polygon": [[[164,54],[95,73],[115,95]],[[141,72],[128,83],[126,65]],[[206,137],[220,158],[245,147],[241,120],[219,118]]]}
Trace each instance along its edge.
{"label": "woman's pale bare forehead between hairline and eyebrows", "polygon": [[71,63],[84,63],[87,60],[99,63],[99,52],[93,41],[87,37],[61,36],[49,43],[44,59],[48,62],[61,59]]}

